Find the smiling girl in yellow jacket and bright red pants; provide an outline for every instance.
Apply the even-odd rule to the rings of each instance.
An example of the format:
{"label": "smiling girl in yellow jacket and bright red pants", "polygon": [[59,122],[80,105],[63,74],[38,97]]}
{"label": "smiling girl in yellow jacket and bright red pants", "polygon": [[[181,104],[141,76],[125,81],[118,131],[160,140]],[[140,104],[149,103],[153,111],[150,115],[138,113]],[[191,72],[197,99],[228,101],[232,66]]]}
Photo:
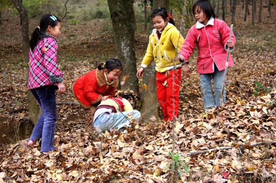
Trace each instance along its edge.
{"label": "smiling girl in yellow jacket and bright red pants", "polygon": [[[176,48],[178,52],[184,42],[180,32],[174,26],[174,20],[165,8],[155,9],[151,14],[154,29],[149,36],[146,54],[136,76],[142,78],[144,70],[154,60],[156,68],[157,99],[162,107],[165,120],[177,117],[179,104],[179,87],[181,84],[181,64],[175,61],[176,72],[173,71]],[[179,41],[178,41],[179,40]],[[173,92],[174,78],[174,92]],[[173,105],[174,100],[174,105]]]}

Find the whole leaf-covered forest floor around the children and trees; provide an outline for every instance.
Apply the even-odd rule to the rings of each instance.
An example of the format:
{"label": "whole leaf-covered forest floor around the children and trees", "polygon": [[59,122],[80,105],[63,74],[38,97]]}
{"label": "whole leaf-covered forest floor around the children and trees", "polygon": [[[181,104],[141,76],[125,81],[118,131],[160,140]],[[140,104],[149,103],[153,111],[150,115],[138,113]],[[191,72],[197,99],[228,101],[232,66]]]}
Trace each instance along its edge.
{"label": "whole leaf-covered forest floor around the children and trees", "polygon": [[[58,105],[56,150],[45,155],[39,143],[28,147],[33,125],[28,121],[26,76],[20,21],[6,16],[0,25],[0,182],[169,182],[173,171],[169,152],[186,155],[186,182],[276,181],[276,17],[263,8],[262,22],[243,21],[236,11],[235,65],[227,72],[226,104],[204,112],[196,73],[182,77],[179,118],[146,121],[126,134],[96,137],[86,129],[84,111],[76,105]],[[271,15],[276,14],[272,7]],[[221,18],[221,17],[219,17]],[[180,22],[180,21],[179,21]],[[225,22],[230,25],[230,15]],[[65,94],[57,102],[76,101],[72,83],[84,73],[116,56],[110,21],[93,19],[69,25],[64,19],[58,64],[64,73]],[[63,25],[62,24],[62,25]],[[38,25],[31,19],[30,30]],[[142,25],[138,25],[142,27]],[[135,51],[140,64],[147,35],[138,31]],[[145,31],[147,32],[147,31]],[[214,150],[215,149],[215,150]],[[208,150],[208,151],[207,151]]]}

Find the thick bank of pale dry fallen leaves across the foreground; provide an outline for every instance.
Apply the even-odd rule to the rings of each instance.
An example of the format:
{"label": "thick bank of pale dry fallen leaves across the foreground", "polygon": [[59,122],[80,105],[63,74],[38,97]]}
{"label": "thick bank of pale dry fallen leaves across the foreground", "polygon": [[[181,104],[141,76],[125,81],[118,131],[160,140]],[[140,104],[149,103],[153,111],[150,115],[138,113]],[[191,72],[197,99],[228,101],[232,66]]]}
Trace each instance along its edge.
{"label": "thick bank of pale dry fallen leaves across the foreground", "polygon": [[[256,101],[231,99],[221,109],[175,121],[175,151],[190,165],[182,181],[271,180],[276,174],[276,89]],[[273,103],[272,105],[270,105]],[[217,115],[219,113],[219,115]],[[94,136],[82,119],[59,124],[55,151],[43,154],[27,140],[2,149],[6,181],[168,182],[172,123],[149,121],[128,133]],[[1,181],[1,179],[0,179]]]}

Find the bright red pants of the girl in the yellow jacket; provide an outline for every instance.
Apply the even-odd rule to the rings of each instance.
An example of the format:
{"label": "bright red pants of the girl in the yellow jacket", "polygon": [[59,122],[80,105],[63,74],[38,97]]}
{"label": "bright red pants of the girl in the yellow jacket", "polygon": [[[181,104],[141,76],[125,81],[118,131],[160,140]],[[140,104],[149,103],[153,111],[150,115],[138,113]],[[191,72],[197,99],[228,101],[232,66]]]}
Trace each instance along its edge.
{"label": "bright red pants of the girl in the yellow jacket", "polygon": [[[169,72],[169,73],[168,73]],[[179,88],[181,84],[181,68],[176,69],[176,72],[173,70],[167,71],[164,73],[156,72],[156,91],[157,99],[162,107],[164,118],[166,121],[172,119],[173,116],[177,117],[178,113],[178,104],[179,104]],[[174,75],[174,76],[173,76]],[[174,77],[174,86],[173,86],[173,77]],[[164,86],[165,85],[165,86]],[[174,87],[174,92],[173,92]],[[174,106],[173,106],[174,100]],[[174,110],[174,112],[173,112]]]}

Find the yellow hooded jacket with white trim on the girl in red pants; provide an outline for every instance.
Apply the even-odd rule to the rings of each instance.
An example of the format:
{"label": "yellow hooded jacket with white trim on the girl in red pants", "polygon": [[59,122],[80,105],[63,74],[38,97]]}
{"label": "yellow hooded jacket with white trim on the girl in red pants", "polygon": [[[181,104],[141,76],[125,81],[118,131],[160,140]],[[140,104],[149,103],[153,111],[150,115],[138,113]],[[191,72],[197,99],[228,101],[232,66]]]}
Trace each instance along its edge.
{"label": "yellow hooded jacket with white trim on the girl in red pants", "polygon": [[[166,70],[173,69],[173,59],[175,57],[177,43],[179,52],[183,42],[184,38],[181,35],[179,37],[179,31],[173,24],[168,23],[162,32],[160,40],[157,36],[157,30],[153,29],[152,34],[149,36],[147,51],[141,67],[147,68],[154,60],[156,64],[155,70],[157,72],[163,73]],[[175,64],[177,68],[181,67],[179,61]]]}

